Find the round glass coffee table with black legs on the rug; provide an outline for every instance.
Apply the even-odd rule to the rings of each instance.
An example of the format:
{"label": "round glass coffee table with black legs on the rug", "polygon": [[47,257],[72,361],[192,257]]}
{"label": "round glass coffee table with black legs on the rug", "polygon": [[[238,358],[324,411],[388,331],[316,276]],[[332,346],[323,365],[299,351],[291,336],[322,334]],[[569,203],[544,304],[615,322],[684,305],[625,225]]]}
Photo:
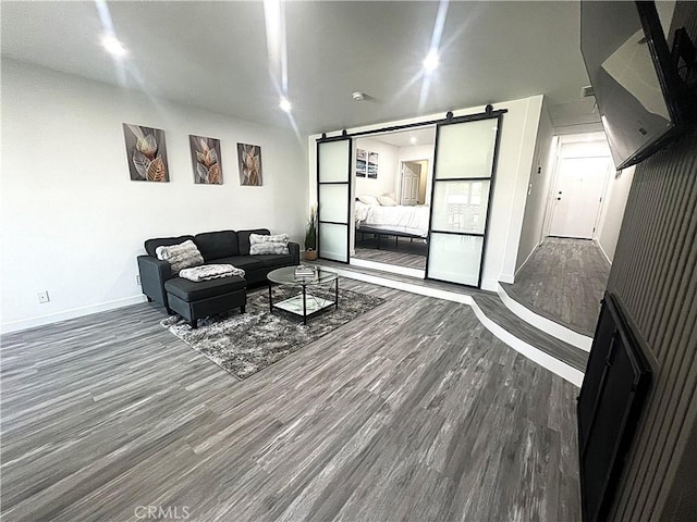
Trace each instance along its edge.
{"label": "round glass coffee table with black legs on the rug", "polygon": [[[317,266],[316,272],[308,276],[296,276],[297,266],[277,269],[267,275],[269,282],[269,309],[283,310],[307,319],[334,307],[339,308],[339,274],[331,270]],[[327,287],[333,283],[333,295]],[[273,285],[278,285],[282,293],[282,300],[273,302]]]}

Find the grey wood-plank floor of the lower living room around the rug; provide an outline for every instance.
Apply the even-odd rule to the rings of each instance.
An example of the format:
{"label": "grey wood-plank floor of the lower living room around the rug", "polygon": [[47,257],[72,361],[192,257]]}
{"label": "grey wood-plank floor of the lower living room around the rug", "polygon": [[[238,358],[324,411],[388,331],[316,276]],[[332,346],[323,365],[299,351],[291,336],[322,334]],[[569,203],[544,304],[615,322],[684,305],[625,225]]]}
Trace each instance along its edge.
{"label": "grey wood-plank floor of the lower living room around the rug", "polygon": [[388,301],[244,382],[145,303],[4,336],[3,520],[580,520],[577,388],[467,306],[341,285]]}

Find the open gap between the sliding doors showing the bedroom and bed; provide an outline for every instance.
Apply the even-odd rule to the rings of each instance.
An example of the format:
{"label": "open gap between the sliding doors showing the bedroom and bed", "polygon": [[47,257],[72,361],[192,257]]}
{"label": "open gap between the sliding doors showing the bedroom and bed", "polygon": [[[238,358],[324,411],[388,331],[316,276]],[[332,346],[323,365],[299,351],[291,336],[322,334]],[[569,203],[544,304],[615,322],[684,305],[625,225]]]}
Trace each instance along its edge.
{"label": "open gap between the sliding doors showing the bedroom and bed", "polygon": [[436,127],[354,139],[350,263],[424,278]]}

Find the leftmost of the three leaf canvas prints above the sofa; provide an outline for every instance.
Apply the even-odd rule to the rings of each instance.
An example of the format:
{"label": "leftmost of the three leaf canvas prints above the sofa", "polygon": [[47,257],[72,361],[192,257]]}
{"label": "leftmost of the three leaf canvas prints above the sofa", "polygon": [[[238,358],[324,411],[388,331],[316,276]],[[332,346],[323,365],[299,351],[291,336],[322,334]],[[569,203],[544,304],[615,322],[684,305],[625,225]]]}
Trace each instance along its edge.
{"label": "leftmost of the three leaf canvas prints above the sofa", "polygon": [[135,182],[169,182],[164,130],[123,124],[131,179]]}

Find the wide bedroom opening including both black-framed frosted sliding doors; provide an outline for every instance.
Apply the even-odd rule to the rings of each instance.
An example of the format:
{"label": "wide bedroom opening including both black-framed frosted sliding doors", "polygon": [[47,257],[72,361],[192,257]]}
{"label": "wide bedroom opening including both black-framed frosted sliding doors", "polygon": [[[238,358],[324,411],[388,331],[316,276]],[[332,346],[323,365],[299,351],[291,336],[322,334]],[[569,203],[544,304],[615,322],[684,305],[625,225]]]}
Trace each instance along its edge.
{"label": "wide bedroom opening including both black-framed frosted sliding doors", "polygon": [[[487,105],[481,113],[449,112],[421,124],[322,135],[317,140],[319,258],[481,288],[499,130],[506,112]],[[428,133],[428,145],[415,136],[420,133]],[[425,204],[400,204],[401,167],[424,156],[432,165],[427,169]],[[322,209],[333,206],[332,200],[340,212],[327,219]],[[323,238],[323,229],[331,240],[325,243],[330,237]],[[343,261],[345,233],[348,251]],[[407,259],[418,259],[418,268]]]}

